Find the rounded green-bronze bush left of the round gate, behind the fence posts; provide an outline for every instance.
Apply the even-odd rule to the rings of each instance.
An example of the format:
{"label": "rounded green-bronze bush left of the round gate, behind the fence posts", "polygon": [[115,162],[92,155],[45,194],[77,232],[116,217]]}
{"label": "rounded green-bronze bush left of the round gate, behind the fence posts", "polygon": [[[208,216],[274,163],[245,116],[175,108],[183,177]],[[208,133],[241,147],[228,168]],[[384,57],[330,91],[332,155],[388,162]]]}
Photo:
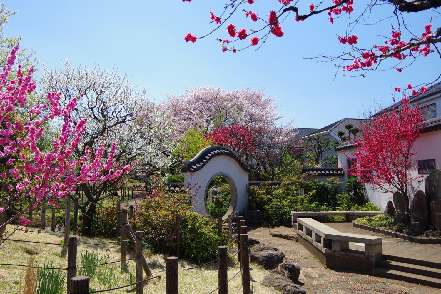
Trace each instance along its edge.
{"label": "rounded green-bronze bush left of the round gate, behind the fence posts", "polygon": [[[161,197],[139,204],[131,220],[134,231],[142,231],[144,244],[153,252],[174,253],[175,214],[180,214],[180,257],[202,262],[217,257],[217,223],[191,212],[188,194],[162,193]],[[222,244],[231,244],[228,231],[223,231]]]}

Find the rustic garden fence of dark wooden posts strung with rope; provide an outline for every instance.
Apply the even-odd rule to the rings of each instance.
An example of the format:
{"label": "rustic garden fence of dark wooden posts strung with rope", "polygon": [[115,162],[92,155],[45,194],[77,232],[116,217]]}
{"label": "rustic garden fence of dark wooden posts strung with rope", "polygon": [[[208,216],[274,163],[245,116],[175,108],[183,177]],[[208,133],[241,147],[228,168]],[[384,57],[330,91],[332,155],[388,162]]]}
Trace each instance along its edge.
{"label": "rustic garden fence of dark wooden posts strung with rope", "polygon": [[[67,197],[69,198],[69,197]],[[75,197],[74,197],[75,198]],[[69,198],[70,200],[70,198]],[[67,293],[69,294],[89,294],[89,293],[100,293],[100,292],[109,292],[112,290],[121,289],[124,287],[131,287],[135,286],[136,294],[142,294],[142,283],[147,282],[151,279],[161,279],[161,275],[153,276],[153,273],[151,272],[149,265],[147,264],[146,258],[144,257],[142,253],[142,232],[137,231],[136,233],[133,232],[130,224],[128,223],[127,218],[127,209],[123,208],[120,209],[120,203],[118,205],[117,202],[117,209],[114,210],[112,208],[107,208],[105,206],[102,206],[103,208],[110,209],[113,211],[116,211],[117,213],[117,223],[108,222],[105,220],[97,220],[99,222],[105,222],[105,223],[112,223],[117,228],[117,237],[119,228],[121,240],[116,240],[112,242],[101,242],[101,243],[93,243],[93,244],[77,244],[77,237],[70,237],[70,211],[73,210],[74,214],[78,214],[78,199],[74,199],[75,204],[74,208],[70,208],[70,201],[66,201],[65,208],[52,208],[52,226],[51,230],[55,231],[54,227],[54,218],[55,218],[55,210],[60,210],[65,212],[65,238],[67,236],[67,242],[64,242],[63,244],[56,244],[56,243],[46,243],[46,242],[36,242],[36,241],[24,241],[24,240],[15,240],[10,238],[0,238],[2,242],[5,241],[11,241],[11,242],[29,242],[29,243],[39,243],[39,244],[46,244],[46,245],[54,245],[54,246],[62,246],[62,256],[63,252],[67,252],[67,267],[66,268],[48,268],[48,267],[32,267],[32,268],[43,268],[43,269],[49,269],[49,270],[66,270],[67,271]],[[130,209],[130,208],[129,208]],[[69,213],[66,213],[69,211]],[[43,209],[42,209],[43,212]],[[66,217],[68,215],[68,217]],[[119,217],[118,217],[119,215]],[[78,216],[78,215],[77,215]],[[133,207],[129,210],[129,216],[133,217]],[[45,213],[42,213],[42,223],[45,223],[44,220]],[[90,217],[90,216],[86,216]],[[76,228],[75,220],[77,220],[78,217],[74,217],[74,228]],[[121,223],[118,223],[121,222]],[[207,220],[206,222],[217,222],[217,228],[218,228],[218,236],[222,236],[222,230],[224,228],[221,217],[218,217],[217,220],[211,221]],[[215,292],[216,290],[219,290],[219,294],[227,294],[228,293],[228,282],[230,282],[232,279],[235,278],[239,273],[242,273],[242,289],[243,294],[250,294],[250,268],[249,268],[249,257],[248,257],[248,234],[247,234],[247,227],[245,226],[245,221],[243,220],[242,216],[238,216],[236,224],[236,228],[234,228],[233,223],[231,220],[226,221],[226,226],[228,226],[228,231],[230,234],[230,237],[232,237],[233,231],[238,231],[238,251],[236,254],[238,254],[238,259],[240,263],[240,270],[239,272],[235,273],[235,275],[232,276],[229,280],[227,280],[227,274],[228,274],[228,268],[227,268],[227,260],[235,257],[233,255],[232,257],[227,257],[227,247],[222,246],[222,244],[219,244],[218,246],[218,258],[209,261],[208,263],[201,264],[192,268],[184,268],[183,270],[192,270],[195,268],[201,268],[203,266],[206,266],[208,264],[211,264],[213,262],[218,262],[218,287],[209,294]],[[180,215],[175,215],[175,234],[176,234],[176,255],[177,257],[167,257],[166,259],[166,294],[177,294],[178,293],[178,259],[179,259],[179,227],[180,227]],[[66,233],[67,232],[67,233]],[[76,230],[74,230],[76,233]],[[127,238],[129,238],[127,240]],[[220,238],[221,240],[221,238]],[[135,258],[129,258],[127,259],[127,242],[131,242],[133,244],[133,247],[135,248]],[[106,263],[101,264],[93,264],[83,267],[77,266],[77,247],[78,246],[100,246],[102,244],[108,244],[108,243],[121,243],[121,259],[119,261],[110,261]],[[243,250],[243,248],[245,248]],[[95,290],[90,291],[89,290],[89,283],[90,278],[87,276],[77,276],[77,269],[80,268],[88,268],[88,267],[95,267],[95,266],[101,266],[105,264],[112,264],[112,263],[121,263],[121,267],[127,267],[126,262],[134,260],[136,267],[135,267],[135,283],[131,283],[128,285],[123,285],[120,287],[115,287],[111,289],[106,290]],[[5,264],[0,263],[0,265],[7,265],[7,266],[19,266],[19,267],[27,267],[28,265],[22,265],[22,264]],[[142,279],[142,272],[146,273],[147,278]]]}

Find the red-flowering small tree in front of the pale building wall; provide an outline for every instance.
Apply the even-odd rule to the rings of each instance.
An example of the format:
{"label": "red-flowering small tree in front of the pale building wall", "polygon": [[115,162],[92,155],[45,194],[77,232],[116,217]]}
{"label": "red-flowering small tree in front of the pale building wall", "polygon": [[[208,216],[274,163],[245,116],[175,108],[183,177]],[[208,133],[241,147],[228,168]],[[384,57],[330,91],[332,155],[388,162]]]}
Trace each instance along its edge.
{"label": "red-flowering small tree in front of the pale building wall", "polygon": [[419,105],[411,107],[408,102],[403,99],[399,108],[380,112],[363,123],[360,135],[352,141],[355,151],[351,155],[345,153],[352,163],[346,168],[350,175],[384,192],[406,196],[407,211],[409,186],[417,180],[410,174],[415,165],[413,147],[424,121]]}

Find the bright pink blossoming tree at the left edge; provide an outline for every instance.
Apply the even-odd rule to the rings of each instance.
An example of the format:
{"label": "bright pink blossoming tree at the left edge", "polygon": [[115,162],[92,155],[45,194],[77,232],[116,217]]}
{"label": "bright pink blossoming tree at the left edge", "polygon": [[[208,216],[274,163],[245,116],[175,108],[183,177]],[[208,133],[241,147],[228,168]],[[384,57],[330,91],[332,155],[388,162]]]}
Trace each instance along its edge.
{"label": "bright pink blossoming tree at the left edge", "polygon": [[[0,236],[4,236],[6,225],[14,221],[29,225],[30,221],[25,219],[24,214],[31,209],[46,203],[56,205],[58,199],[69,195],[78,185],[93,184],[99,179],[101,169],[106,170],[101,181],[113,181],[132,168],[131,165],[123,169],[114,168],[116,143],[112,142],[106,152],[102,140],[97,142],[96,149],[86,146],[82,156],[72,159],[87,129],[86,118],[76,122],[71,119],[82,95],[71,97],[61,105],[61,93],[49,92],[46,96],[49,104],[29,104],[28,97],[36,88],[32,82],[33,68],[22,72],[19,65],[17,78],[9,76],[17,52],[18,46],[12,48],[7,66],[0,73]],[[53,141],[52,149],[44,153],[38,147],[38,140],[44,136],[41,126],[49,121],[57,121],[60,132]],[[5,237],[17,229],[18,226],[14,231],[6,232]]]}

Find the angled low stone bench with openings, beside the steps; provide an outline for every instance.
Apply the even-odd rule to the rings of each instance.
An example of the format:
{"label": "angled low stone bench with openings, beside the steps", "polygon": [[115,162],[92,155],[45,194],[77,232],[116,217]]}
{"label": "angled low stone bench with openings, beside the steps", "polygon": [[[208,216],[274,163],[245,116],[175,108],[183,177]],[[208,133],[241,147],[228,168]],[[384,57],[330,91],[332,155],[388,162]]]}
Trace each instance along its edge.
{"label": "angled low stone bench with openings, beside the steps", "polygon": [[[381,237],[342,233],[309,217],[297,219],[297,236],[329,268],[370,270],[383,257]],[[364,251],[349,249],[349,242],[363,244]]]}

